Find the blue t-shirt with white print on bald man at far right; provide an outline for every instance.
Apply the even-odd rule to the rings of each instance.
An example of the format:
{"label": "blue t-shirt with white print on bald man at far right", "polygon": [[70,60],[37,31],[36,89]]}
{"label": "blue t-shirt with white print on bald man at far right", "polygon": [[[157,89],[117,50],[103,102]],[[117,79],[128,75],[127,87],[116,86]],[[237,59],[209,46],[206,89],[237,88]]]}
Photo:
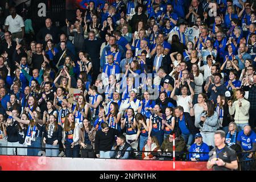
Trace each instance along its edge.
{"label": "blue t-shirt with white print on bald man at far right", "polygon": [[253,143],[256,143],[256,134],[254,131],[251,131],[250,135],[246,136],[242,130],[238,133],[237,141],[241,142],[243,150],[249,151],[253,148]]}

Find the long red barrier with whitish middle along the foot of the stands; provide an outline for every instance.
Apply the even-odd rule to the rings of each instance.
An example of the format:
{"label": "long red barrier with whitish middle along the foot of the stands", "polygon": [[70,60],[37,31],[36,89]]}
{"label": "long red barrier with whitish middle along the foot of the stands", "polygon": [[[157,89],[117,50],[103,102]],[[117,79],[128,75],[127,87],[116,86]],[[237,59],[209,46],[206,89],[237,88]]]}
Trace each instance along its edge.
{"label": "long red barrier with whitish middle along the foot of the stands", "polygon": [[[79,165],[77,165],[79,164]],[[206,171],[207,162],[0,156],[3,171]]]}

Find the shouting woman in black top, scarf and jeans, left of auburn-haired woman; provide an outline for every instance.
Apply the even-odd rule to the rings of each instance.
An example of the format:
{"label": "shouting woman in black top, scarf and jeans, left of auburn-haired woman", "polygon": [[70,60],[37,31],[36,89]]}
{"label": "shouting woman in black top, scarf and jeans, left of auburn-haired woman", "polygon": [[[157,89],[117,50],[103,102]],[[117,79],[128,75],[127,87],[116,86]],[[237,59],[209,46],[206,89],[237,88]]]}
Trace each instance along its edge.
{"label": "shouting woman in black top, scarf and jeans, left of auburn-haired woman", "polygon": [[58,156],[62,139],[62,127],[57,124],[55,115],[49,116],[49,122],[43,127],[43,142],[46,144],[46,156]]}

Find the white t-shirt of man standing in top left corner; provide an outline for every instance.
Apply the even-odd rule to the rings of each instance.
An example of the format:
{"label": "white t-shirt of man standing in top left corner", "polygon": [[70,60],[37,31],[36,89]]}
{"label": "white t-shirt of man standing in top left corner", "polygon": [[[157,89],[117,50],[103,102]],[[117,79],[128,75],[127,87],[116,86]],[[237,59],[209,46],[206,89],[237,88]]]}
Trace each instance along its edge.
{"label": "white t-shirt of man standing in top left corner", "polygon": [[18,14],[14,19],[11,15],[9,15],[5,20],[5,25],[9,26],[9,31],[11,34],[14,34],[22,31],[22,27],[24,27],[24,21]]}

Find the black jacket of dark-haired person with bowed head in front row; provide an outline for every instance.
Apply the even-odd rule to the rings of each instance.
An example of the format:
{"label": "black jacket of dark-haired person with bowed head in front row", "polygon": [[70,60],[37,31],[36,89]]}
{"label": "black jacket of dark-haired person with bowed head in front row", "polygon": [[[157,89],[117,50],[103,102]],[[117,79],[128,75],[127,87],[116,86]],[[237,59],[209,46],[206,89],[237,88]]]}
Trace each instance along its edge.
{"label": "black jacket of dark-haired person with bowed head in front row", "polygon": [[118,136],[118,133],[118,130],[111,127],[109,128],[108,133],[98,130],[95,136],[96,154],[100,154],[100,151],[110,151],[115,142],[115,136]]}

